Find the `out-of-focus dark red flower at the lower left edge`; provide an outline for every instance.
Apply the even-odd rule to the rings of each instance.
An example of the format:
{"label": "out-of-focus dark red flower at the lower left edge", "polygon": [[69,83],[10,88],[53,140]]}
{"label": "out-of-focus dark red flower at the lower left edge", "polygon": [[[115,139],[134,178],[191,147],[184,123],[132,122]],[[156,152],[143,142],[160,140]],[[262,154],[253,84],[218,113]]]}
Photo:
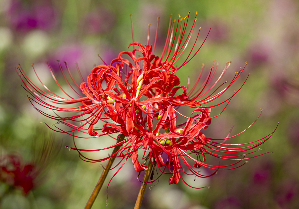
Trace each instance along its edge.
{"label": "out-of-focus dark red flower at the lower left edge", "polygon": [[33,164],[24,164],[19,155],[4,155],[0,158],[0,181],[22,188],[26,195],[34,187],[37,172]]}

